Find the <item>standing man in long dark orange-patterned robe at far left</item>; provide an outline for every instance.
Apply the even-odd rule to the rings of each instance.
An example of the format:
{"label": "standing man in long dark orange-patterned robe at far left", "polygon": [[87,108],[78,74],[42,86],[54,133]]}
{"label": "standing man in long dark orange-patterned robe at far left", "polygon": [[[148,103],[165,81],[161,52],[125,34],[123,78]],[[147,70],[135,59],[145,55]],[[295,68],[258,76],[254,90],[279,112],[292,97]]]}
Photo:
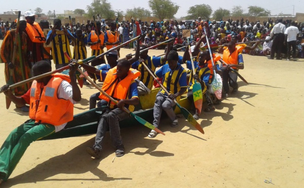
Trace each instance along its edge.
{"label": "standing man in long dark orange-patterned robe at far left", "polygon": [[[16,29],[7,31],[5,38],[1,45],[1,59],[5,63],[5,81],[6,83],[17,83],[25,79],[30,78],[30,69],[28,65],[28,50],[27,50],[27,36],[26,36],[26,21],[24,17],[20,17],[20,25],[18,35],[20,41],[16,43],[16,55],[13,62],[14,43],[16,37]],[[13,70],[13,75],[11,75]],[[13,79],[12,79],[13,78]],[[12,83],[11,83],[12,82]],[[17,97],[22,96],[30,88],[30,83],[14,88],[14,95]],[[9,99],[6,99],[9,100]],[[28,108],[25,105],[18,106],[23,112],[28,112]]]}

